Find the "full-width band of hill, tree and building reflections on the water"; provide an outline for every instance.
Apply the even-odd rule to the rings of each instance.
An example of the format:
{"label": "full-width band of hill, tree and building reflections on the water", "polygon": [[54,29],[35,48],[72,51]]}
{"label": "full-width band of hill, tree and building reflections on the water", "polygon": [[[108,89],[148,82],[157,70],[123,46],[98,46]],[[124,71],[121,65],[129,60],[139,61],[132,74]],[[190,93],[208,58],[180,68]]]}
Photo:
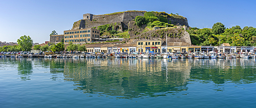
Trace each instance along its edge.
{"label": "full-width band of hill, tree and building reflections on the water", "polygon": [[0,63],[17,64],[23,80],[30,80],[33,68],[42,67],[50,69],[52,80],[74,82],[74,90],[127,99],[176,94],[193,82],[212,83],[214,90],[223,91],[220,86],[227,83],[256,81],[255,59],[22,58]]}

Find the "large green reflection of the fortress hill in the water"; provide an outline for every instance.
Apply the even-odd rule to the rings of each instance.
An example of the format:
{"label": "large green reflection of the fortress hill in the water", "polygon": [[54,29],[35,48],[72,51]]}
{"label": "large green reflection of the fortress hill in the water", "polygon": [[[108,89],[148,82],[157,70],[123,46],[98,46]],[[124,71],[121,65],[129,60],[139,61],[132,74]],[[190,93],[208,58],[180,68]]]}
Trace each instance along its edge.
{"label": "large green reflection of the fortress hill in the water", "polygon": [[[72,63],[72,61],[76,61]],[[161,59],[75,59],[66,63],[65,80],[76,82],[74,90],[119,98],[165,96],[187,90],[189,70],[177,69]],[[167,78],[167,82],[166,82]]]}

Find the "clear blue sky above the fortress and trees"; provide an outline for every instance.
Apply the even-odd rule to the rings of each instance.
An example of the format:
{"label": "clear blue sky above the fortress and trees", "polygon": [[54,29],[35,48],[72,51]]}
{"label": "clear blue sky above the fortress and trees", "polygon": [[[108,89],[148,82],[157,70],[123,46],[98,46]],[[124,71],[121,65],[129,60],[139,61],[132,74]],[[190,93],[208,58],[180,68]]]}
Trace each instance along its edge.
{"label": "clear blue sky above the fortress and trees", "polygon": [[256,1],[1,1],[0,41],[16,42],[20,36],[32,37],[34,42],[50,40],[72,28],[82,15],[121,12],[127,10],[179,13],[191,27],[212,28],[222,22],[226,28],[235,25],[256,27]]}

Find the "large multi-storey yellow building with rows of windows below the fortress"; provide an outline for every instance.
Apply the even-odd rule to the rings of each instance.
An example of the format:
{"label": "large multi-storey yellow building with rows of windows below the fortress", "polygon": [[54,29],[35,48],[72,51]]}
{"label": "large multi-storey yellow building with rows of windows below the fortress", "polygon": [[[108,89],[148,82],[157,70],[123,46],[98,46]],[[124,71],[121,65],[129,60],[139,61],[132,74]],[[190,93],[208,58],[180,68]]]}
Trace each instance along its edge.
{"label": "large multi-storey yellow building with rows of windows below the fortress", "polygon": [[96,29],[79,29],[64,31],[64,44],[73,42],[75,44],[91,43],[100,38],[100,31]]}

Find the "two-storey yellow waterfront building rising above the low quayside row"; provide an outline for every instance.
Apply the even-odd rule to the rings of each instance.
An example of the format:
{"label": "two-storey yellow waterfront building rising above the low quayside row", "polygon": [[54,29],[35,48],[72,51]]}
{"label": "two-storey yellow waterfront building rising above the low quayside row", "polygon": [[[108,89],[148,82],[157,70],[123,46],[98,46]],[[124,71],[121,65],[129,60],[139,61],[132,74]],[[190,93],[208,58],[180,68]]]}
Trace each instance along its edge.
{"label": "two-storey yellow waterfront building rising above the low quayside row", "polygon": [[136,51],[138,52],[149,52],[156,51],[161,52],[162,40],[138,40],[136,43]]}

